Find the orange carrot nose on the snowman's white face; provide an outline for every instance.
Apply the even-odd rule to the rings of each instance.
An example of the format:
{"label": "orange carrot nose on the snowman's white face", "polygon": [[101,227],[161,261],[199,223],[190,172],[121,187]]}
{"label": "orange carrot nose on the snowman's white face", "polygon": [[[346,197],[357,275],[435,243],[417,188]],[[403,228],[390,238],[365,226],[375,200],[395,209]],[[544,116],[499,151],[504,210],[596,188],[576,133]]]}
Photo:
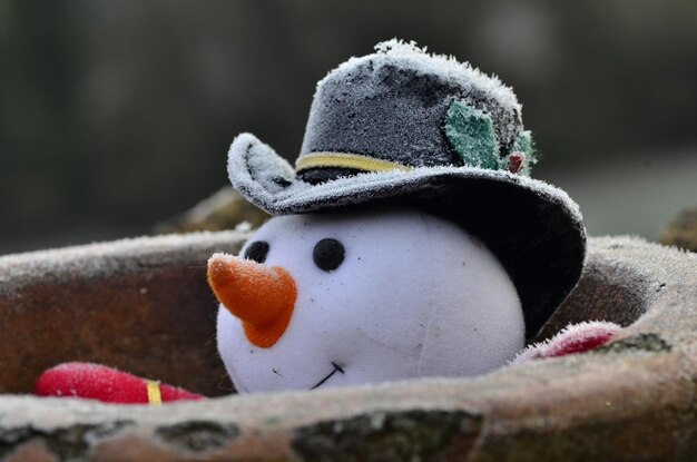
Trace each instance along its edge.
{"label": "orange carrot nose on the snowman's white face", "polygon": [[279,266],[214,254],[208,261],[208,284],[218,302],[242,320],[247,338],[256,346],[274,345],[291,322],[297,289]]}

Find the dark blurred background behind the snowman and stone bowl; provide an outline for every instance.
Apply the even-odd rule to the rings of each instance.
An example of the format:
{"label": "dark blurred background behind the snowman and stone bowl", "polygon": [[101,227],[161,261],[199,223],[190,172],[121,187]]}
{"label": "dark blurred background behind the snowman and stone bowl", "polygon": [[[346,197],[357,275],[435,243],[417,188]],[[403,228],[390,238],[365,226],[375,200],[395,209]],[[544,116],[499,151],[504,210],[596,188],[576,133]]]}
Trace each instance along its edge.
{"label": "dark blurred background behind the snowman and stone bowl", "polygon": [[512,86],[591,235],[697,203],[697,2],[0,0],[0,254],[150,233],[252,131],[295,158],[315,82],[415,40]]}

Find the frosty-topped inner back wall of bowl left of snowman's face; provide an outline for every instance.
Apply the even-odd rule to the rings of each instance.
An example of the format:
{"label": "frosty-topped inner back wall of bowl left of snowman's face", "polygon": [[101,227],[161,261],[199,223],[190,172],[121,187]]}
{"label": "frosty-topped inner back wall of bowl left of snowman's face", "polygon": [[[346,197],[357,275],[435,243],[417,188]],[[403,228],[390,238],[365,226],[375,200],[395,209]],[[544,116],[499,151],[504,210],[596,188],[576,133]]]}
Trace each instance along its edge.
{"label": "frosty-topped inner back wall of bowl left of snowman's face", "polygon": [[30,392],[43,370],[67,361],[229,393],[206,262],[236,253],[245,237],[146,237],[0,258],[0,393]]}

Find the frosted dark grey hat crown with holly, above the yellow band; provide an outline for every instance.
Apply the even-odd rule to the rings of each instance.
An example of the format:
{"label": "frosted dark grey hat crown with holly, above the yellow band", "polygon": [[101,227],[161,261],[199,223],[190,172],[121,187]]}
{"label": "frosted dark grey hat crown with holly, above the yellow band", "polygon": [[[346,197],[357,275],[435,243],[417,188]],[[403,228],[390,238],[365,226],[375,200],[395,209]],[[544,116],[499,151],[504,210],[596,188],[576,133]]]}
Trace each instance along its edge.
{"label": "frosted dark grey hat crown with holly, above the yellow band", "polygon": [[343,153],[408,167],[502,169],[529,145],[516,95],[498,78],[413,43],[376,49],[317,83],[301,158]]}

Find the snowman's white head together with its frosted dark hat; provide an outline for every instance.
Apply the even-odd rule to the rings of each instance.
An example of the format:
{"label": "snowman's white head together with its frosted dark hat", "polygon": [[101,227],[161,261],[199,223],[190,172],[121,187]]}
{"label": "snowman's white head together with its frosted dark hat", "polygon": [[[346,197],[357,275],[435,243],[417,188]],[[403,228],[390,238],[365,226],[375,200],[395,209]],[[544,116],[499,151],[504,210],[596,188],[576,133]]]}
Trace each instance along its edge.
{"label": "snowman's white head together with its frosted dark hat", "polygon": [[249,134],[233,186],[274,215],[215,254],[217,344],[238,392],[495,370],[576,285],[576,204],[529,177],[513,91],[392,40],[317,85],[292,167]]}

